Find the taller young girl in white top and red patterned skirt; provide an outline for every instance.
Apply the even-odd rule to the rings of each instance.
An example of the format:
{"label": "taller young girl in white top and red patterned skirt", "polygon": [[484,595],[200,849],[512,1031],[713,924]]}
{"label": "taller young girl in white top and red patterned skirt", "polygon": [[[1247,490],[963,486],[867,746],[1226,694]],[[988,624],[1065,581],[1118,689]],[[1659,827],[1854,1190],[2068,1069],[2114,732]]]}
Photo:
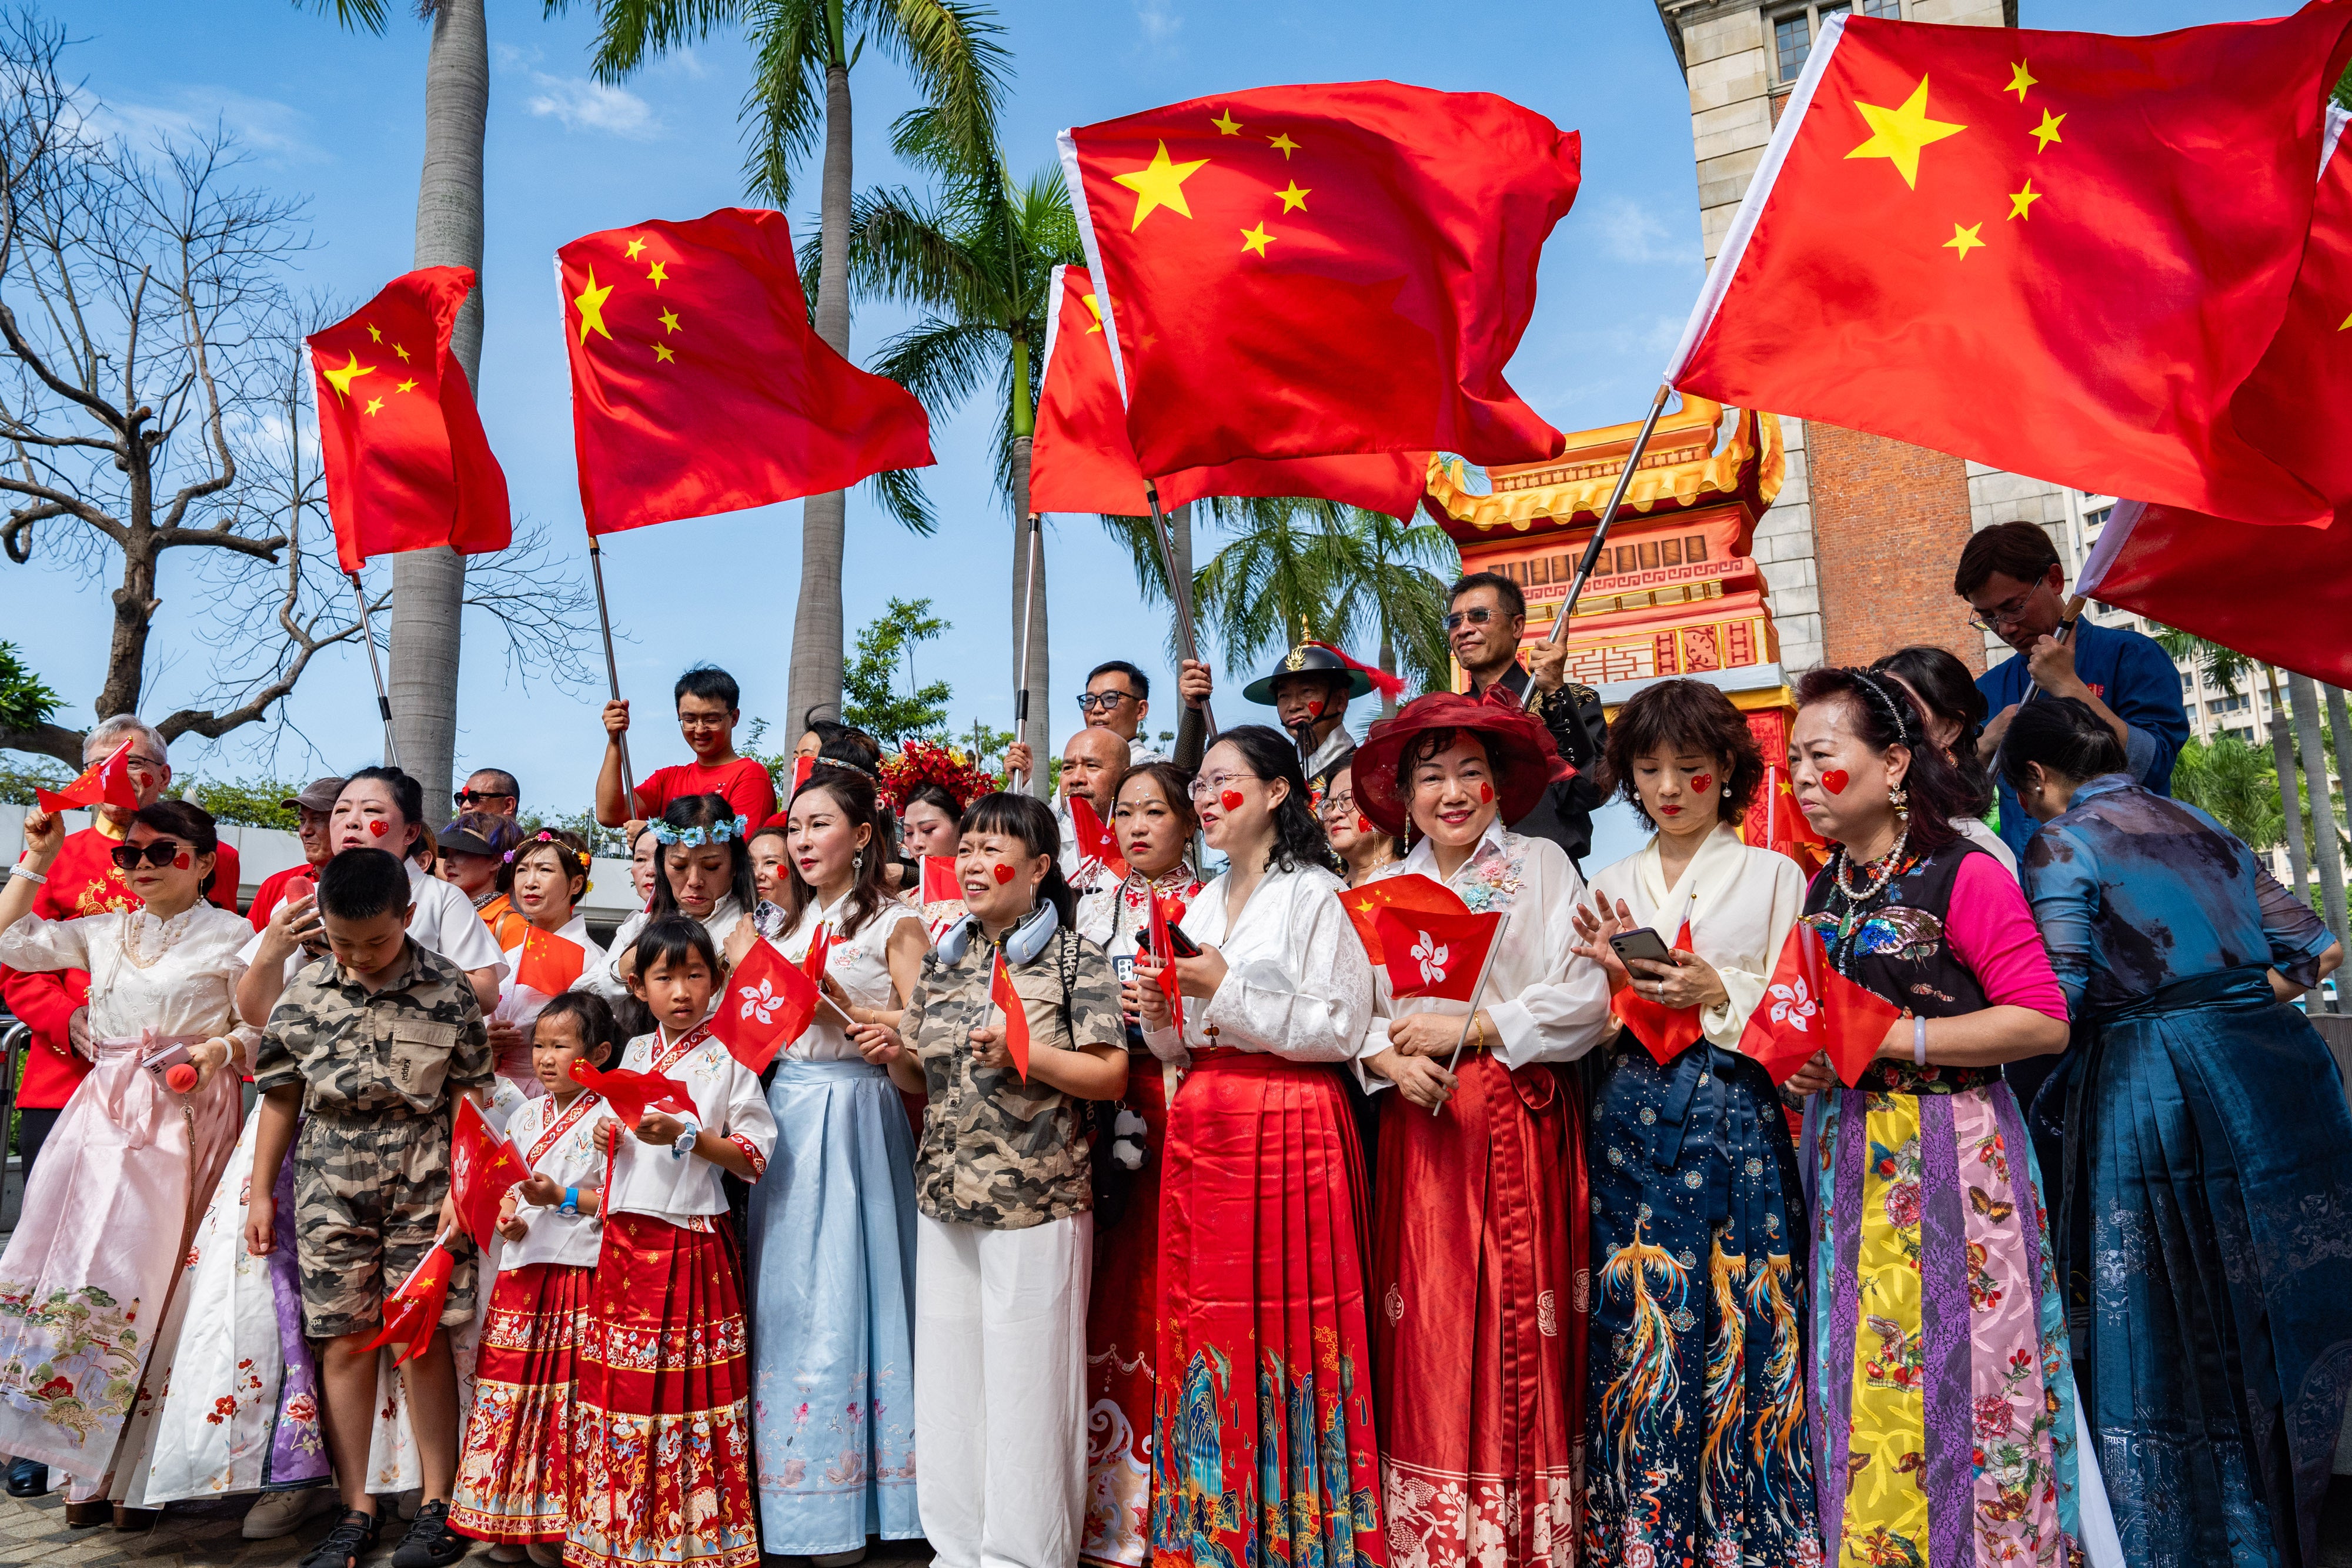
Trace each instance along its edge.
{"label": "taller young girl in white top and red patterned skirt", "polygon": [[760,1180],[776,1119],[760,1079],[703,1023],[720,969],[710,931],[663,914],[628,959],[654,1032],[628,1041],[621,1067],[675,1081],[684,1100],[666,1095],[635,1126],[600,1133],[612,1182],[579,1347],[564,1561],[755,1568],[750,1368],[720,1173]]}

